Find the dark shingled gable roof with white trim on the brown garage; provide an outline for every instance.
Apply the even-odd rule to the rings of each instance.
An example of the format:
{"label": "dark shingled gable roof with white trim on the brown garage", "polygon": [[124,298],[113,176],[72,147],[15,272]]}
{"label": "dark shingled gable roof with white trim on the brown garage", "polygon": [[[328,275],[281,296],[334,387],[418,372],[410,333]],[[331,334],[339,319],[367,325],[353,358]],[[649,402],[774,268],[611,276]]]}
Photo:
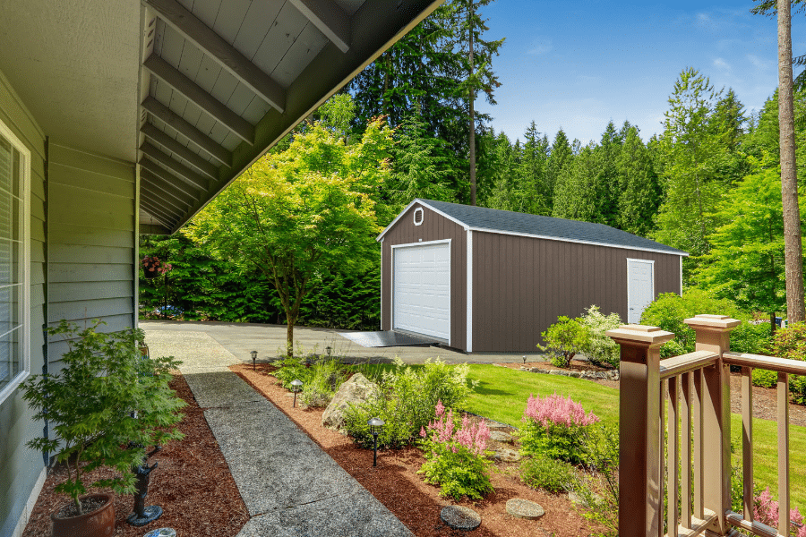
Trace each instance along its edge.
{"label": "dark shingled gable roof with white trim on the brown garage", "polygon": [[656,243],[656,241],[627,233],[621,229],[604,226],[604,224],[592,224],[590,222],[579,222],[578,220],[567,220],[565,218],[542,217],[540,215],[530,215],[510,210],[473,207],[470,205],[460,205],[459,203],[448,203],[446,201],[421,200],[419,198],[409,203],[406,209],[403,209],[398,217],[392,220],[391,224],[383,230],[382,234],[378,235],[376,240],[380,241],[383,235],[386,234],[392,226],[398,222],[399,218],[415,203],[419,203],[443,217],[449,218],[459,224],[459,226],[463,226],[465,230],[533,236],[553,241],[594,244],[597,246],[625,248],[628,250],[657,251],[684,257],[688,257],[689,255],[685,251],[666,246],[662,243]]}

